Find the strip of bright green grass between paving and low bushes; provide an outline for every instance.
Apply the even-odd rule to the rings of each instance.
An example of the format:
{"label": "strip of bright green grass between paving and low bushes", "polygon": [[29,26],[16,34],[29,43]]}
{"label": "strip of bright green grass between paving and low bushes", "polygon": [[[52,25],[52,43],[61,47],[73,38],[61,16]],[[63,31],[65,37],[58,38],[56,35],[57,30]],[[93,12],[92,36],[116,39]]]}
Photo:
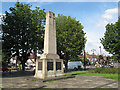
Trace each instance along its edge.
{"label": "strip of bright green grass between paving and low bushes", "polygon": [[103,78],[118,79],[118,74],[89,73],[88,71],[70,72],[65,75],[103,76]]}

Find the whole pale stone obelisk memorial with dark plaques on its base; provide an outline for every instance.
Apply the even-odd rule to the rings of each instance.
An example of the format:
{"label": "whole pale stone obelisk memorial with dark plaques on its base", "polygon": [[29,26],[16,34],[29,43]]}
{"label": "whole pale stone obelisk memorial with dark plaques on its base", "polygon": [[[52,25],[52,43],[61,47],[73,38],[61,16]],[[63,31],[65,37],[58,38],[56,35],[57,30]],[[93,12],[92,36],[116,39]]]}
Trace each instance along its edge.
{"label": "whole pale stone obelisk memorial with dark plaques on its base", "polygon": [[63,75],[63,60],[57,55],[55,14],[46,13],[44,53],[36,60],[35,77],[46,79]]}

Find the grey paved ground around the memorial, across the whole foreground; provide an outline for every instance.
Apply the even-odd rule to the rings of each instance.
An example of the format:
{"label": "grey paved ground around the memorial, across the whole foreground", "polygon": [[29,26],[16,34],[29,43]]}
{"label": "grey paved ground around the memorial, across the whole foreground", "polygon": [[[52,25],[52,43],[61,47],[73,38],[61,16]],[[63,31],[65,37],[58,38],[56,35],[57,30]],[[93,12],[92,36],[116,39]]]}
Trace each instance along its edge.
{"label": "grey paved ground around the memorial, across the whole foreground", "polygon": [[118,88],[118,81],[102,76],[78,76],[64,80],[42,82],[32,73],[25,76],[8,75],[2,78],[2,88]]}

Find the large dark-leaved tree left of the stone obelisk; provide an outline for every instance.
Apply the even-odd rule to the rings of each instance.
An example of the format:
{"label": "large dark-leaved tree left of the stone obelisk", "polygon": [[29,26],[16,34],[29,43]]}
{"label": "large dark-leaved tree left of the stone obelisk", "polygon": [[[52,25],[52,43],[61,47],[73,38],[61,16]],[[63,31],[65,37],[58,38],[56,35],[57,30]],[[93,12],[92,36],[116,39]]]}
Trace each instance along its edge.
{"label": "large dark-leaved tree left of the stone obelisk", "polygon": [[28,54],[32,50],[43,49],[43,34],[45,25],[44,9],[36,7],[31,9],[30,4],[17,2],[15,7],[10,7],[10,12],[5,12],[3,17],[3,52],[21,56],[24,70]]}

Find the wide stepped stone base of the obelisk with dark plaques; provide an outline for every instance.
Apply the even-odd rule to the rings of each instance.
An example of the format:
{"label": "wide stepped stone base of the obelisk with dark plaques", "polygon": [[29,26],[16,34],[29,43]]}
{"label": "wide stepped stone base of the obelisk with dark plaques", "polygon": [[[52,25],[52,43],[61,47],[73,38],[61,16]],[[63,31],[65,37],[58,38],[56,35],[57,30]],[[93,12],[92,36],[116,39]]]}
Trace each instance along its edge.
{"label": "wide stepped stone base of the obelisk with dark plaques", "polygon": [[43,54],[36,60],[36,72],[34,77],[46,79],[64,75],[63,60],[58,55]]}

